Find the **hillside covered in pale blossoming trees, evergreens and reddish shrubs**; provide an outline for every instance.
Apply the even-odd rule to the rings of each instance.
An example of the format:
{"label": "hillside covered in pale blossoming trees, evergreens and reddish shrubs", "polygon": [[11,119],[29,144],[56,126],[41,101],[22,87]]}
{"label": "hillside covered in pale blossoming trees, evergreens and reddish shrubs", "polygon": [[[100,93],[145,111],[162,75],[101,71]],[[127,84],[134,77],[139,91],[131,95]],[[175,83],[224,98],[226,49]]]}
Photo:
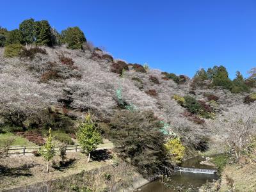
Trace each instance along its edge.
{"label": "hillside covered in pale blossoming trees, evergreens and reddish shrubs", "polygon": [[0,28],[0,88],[1,133],[51,127],[71,138],[90,112],[118,156],[144,175],[202,152],[255,158],[248,146],[256,134],[256,68],[247,79],[240,72],[230,79],[222,65],[190,79],[115,59],[79,27],[59,33],[47,20],[28,19]]}

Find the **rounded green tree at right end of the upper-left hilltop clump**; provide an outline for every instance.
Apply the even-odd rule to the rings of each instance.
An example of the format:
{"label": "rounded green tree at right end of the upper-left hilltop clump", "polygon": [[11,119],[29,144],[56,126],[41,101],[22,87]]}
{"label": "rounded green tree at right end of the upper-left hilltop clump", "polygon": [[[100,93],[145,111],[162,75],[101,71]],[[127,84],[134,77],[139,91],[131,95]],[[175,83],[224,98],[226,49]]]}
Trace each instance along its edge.
{"label": "rounded green tree at right end of the upper-left hilltop clump", "polygon": [[62,42],[68,44],[68,49],[83,49],[83,43],[86,42],[83,31],[78,27],[61,31],[61,36]]}

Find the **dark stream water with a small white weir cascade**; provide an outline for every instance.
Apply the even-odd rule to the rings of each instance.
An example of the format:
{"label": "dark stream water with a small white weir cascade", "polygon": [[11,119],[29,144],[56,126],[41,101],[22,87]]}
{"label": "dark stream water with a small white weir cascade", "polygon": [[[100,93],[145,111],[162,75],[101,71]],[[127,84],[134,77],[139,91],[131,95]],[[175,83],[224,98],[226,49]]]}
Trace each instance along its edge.
{"label": "dark stream water with a small white weir cascade", "polygon": [[[188,159],[180,164],[182,170],[188,170],[188,172],[175,172],[167,180],[161,182],[161,179],[157,179],[153,182],[146,184],[145,186],[137,189],[141,192],[173,192],[173,191],[186,191],[189,188],[192,191],[198,191],[198,188],[205,184],[207,181],[217,180],[219,177],[216,174],[212,174],[211,170],[214,167],[200,164],[200,161],[205,160],[202,157],[194,157]],[[187,169],[191,168],[191,169]],[[192,171],[193,173],[189,172]]]}

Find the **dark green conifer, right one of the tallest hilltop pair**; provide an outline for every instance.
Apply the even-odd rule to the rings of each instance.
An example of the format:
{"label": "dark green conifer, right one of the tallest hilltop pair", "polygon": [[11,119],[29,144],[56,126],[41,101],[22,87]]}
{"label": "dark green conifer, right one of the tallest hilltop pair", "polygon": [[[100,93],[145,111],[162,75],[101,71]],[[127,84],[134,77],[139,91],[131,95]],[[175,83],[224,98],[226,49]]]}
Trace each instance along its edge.
{"label": "dark green conifer, right one of the tallest hilltop pair", "polygon": [[36,45],[52,46],[51,26],[47,20],[35,22],[35,42]]}

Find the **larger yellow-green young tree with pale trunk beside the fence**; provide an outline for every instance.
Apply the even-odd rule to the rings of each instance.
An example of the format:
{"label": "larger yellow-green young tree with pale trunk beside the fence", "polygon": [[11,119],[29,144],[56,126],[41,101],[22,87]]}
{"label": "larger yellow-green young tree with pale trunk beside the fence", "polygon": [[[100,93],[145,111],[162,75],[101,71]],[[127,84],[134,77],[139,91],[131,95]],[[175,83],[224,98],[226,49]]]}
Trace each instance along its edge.
{"label": "larger yellow-green young tree with pale trunk beside the fence", "polygon": [[85,121],[78,127],[77,140],[83,150],[88,154],[87,162],[89,163],[90,153],[102,143],[100,132],[97,130],[96,124],[93,122],[90,113],[86,115]]}

